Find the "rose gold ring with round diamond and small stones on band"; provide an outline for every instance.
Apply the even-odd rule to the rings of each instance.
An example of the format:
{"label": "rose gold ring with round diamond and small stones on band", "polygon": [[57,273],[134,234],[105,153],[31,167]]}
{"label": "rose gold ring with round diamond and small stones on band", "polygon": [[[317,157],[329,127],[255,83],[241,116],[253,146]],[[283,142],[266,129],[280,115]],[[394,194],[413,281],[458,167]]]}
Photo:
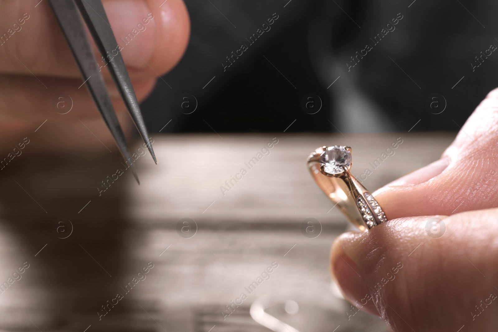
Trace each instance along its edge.
{"label": "rose gold ring with round diamond and small stones on band", "polygon": [[350,146],[319,147],[307,162],[320,189],[360,230],[387,221],[372,194],[350,173],[353,164]]}

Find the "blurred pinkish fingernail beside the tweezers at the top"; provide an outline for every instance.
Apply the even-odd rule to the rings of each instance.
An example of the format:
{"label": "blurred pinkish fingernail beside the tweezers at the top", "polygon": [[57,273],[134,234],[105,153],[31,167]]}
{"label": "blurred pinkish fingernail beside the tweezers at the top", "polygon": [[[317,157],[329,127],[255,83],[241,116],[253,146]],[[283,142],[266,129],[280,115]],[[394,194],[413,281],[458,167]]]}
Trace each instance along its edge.
{"label": "blurred pinkish fingernail beside the tweezers at the top", "polygon": [[110,0],[104,6],[126,66],[147,67],[155,50],[156,24],[146,2]]}

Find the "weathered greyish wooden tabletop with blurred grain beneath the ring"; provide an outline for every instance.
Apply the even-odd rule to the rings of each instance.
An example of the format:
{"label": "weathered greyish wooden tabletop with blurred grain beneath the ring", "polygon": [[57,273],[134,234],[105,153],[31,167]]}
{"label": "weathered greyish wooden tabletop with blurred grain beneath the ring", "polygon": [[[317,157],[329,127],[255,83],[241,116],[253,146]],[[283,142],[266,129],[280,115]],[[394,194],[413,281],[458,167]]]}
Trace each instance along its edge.
{"label": "weathered greyish wooden tabletop with blurred grain beneath the ring", "polygon": [[[0,294],[0,331],[269,331],[249,316],[263,296],[299,331],[388,331],[367,315],[348,320],[348,304],[337,297],[329,251],[347,224],[312,181],[306,157],[321,145],[351,145],[359,177],[402,139],[364,181],[374,191],[438,159],[455,134],[346,136],[156,134],[159,164],[138,158],[140,186],[116,149],[111,157],[25,153],[0,174],[0,283],[9,285]],[[278,143],[249,169],[245,163],[272,139]],[[119,168],[124,174],[99,196]],[[220,187],[242,168],[247,174],[223,195]],[[184,218],[197,225],[190,238],[177,231]],[[318,237],[301,233],[307,218],[322,224]],[[134,285],[149,262],[154,267]],[[245,287],[272,262],[278,268],[249,294]],[[134,287],[125,292],[128,283]],[[243,292],[248,298],[223,320],[221,311]],[[123,298],[99,320],[118,293]],[[288,300],[297,314],[283,310]]]}

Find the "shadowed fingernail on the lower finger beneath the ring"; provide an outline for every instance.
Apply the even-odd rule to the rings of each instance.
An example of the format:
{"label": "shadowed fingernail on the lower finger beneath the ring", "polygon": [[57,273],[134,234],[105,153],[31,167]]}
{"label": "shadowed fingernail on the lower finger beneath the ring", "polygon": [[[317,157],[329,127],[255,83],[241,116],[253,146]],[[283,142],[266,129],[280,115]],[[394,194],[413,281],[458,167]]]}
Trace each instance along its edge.
{"label": "shadowed fingernail on the lower finger beneath the ring", "polygon": [[332,274],[344,297],[357,308],[378,315],[373,298],[355,262],[344,252],[332,253]]}

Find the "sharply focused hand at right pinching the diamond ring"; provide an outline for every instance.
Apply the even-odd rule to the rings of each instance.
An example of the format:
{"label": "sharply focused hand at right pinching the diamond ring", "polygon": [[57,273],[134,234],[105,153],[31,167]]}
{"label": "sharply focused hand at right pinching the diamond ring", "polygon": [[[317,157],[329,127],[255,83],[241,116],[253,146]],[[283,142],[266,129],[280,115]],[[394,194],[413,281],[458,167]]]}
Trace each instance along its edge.
{"label": "sharply focused hand at right pinching the diamond ring", "polygon": [[497,153],[498,89],[440,160],[374,193],[389,221],[336,239],[349,301],[397,332],[497,331]]}

